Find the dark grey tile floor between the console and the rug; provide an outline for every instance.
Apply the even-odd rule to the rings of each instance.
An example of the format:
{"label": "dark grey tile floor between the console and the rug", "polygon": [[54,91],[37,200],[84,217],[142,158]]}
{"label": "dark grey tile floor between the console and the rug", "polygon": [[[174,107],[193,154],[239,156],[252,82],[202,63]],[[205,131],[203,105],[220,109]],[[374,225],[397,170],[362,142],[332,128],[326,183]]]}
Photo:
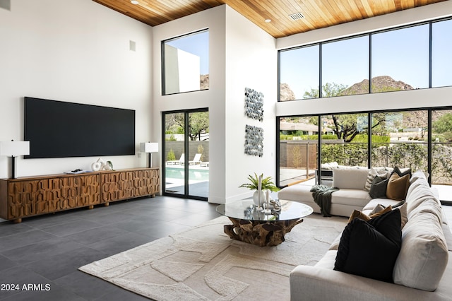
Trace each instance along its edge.
{"label": "dark grey tile floor between the console and the rug", "polygon": [[216,206],[157,196],[0,219],[0,300],[148,300],[77,269],[216,218]]}

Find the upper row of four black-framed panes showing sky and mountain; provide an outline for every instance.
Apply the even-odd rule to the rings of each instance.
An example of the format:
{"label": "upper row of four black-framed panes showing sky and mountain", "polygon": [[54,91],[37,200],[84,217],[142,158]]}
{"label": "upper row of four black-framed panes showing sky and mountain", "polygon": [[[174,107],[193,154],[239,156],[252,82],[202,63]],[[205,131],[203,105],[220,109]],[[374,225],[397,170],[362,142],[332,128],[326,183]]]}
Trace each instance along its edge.
{"label": "upper row of four black-framed panes showing sky and mountain", "polygon": [[280,50],[280,101],[452,85],[451,32],[436,20]]}

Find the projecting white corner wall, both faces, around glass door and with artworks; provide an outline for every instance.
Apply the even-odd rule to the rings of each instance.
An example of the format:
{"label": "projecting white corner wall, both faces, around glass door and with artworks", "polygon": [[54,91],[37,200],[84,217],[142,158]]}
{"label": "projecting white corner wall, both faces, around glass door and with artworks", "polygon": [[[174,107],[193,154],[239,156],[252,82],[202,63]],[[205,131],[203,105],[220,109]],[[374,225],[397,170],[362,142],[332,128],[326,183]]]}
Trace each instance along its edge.
{"label": "projecting white corner wall, both faces, around glass door and with artworks", "polygon": [[[208,90],[161,95],[160,42],[209,29]],[[210,118],[210,187],[208,201],[225,203],[250,196],[239,189],[253,172],[275,177],[275,39],[223,5],[153,28],[153,136],[161,141],[161,112],[208,107]],[[244,88],[264,93],[264,122],[244,116]],[[264,128],[264,157],[244,154],[245,124]],[[273,156],[273,157],[272,157]]]}

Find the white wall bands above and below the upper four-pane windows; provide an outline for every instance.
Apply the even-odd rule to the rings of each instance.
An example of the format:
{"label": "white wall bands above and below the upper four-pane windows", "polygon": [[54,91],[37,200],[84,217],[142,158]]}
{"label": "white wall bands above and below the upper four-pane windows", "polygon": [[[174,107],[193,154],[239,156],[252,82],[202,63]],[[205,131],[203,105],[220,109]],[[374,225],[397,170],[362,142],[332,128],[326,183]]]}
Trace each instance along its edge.
{"label": "white wall bands above and below the upper four-pane windows", "polygon": [[[418,23],[452,16],[452,1],[429,4],[418,8],[390,13],[365,20],[312,30],[308,33],[291,35],[277,40],[277,48],[284,49],[299,45],[347,37],[374,30],[393,28],[400,25]],[[329,114],[336,112],[360,112],[367,110],[398,110],[404,108],[450,106],[452,87],[408,90],[368,95],[343,96],[314,100],[278,102],[276,114],[290,116],[297,114]]]}

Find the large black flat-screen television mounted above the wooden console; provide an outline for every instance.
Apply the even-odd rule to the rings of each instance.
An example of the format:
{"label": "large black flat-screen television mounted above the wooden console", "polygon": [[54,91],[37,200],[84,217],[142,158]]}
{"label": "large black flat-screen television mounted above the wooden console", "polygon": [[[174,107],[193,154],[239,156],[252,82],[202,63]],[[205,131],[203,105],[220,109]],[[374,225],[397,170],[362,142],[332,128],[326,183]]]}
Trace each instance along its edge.
{"label": "large black flat-screen television mounted above the wooden console", "polygon": [[25,158],[135,155],[135,110],[25,97]]}

